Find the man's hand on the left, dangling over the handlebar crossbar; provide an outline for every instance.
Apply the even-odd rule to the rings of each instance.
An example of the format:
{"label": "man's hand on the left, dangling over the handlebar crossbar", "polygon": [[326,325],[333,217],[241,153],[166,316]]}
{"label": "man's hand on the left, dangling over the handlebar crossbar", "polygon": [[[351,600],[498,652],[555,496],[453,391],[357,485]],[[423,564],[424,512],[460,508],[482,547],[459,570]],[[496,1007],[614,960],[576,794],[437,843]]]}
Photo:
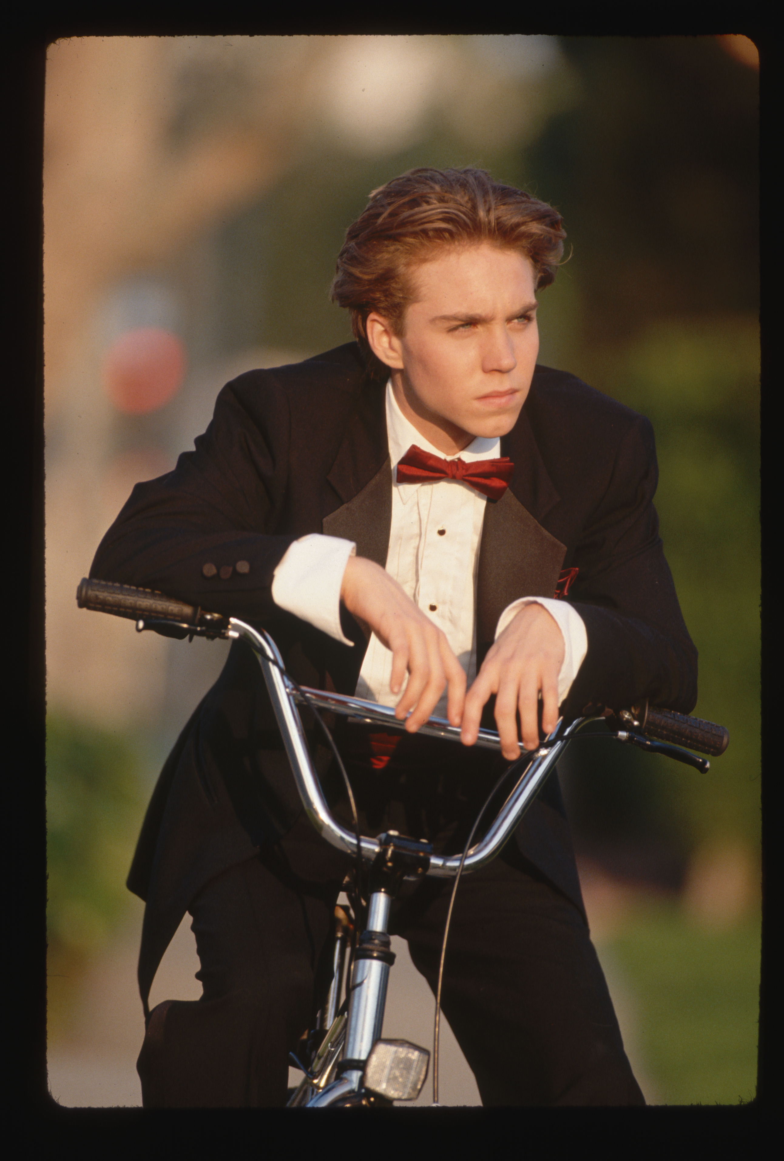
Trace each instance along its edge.
{"label": "man's hand on the left, dangling over the handlebar crossbar", "polygon": [[459,726],[465,699],[465,672],[437,628],[390,574],[363,556],[350,556],[340,597],[349,613],[368,625],[392,651],[393,693],[408,682],[394,711],[406,729],[415,733],[435,709],[444,687],[447,716]]}

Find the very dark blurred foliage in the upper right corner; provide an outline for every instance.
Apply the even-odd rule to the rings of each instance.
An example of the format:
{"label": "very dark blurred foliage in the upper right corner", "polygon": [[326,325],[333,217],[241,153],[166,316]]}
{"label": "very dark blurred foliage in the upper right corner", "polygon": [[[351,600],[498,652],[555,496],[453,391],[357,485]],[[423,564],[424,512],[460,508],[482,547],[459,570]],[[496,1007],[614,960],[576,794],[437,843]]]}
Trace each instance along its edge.
{"label": "very dark blurred foliage in the upper right corner", "polygon": [[525,151],[524,179],[566,221],[583,349],[756,313],[758,74],[713,36],[560,45],[580,99]]}

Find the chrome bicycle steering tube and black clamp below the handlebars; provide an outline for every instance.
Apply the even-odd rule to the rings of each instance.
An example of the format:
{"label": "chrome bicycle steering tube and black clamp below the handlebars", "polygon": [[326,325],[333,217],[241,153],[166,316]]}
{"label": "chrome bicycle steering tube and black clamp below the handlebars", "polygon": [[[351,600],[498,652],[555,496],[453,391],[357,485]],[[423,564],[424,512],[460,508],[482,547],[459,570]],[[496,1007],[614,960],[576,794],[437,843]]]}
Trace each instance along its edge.
{"label": "chrome bicycle steering tube and black clamp below the handlebars", "polygon": [[424,875],[433,848],[394,831],[379,836],[380,851],[370,872],[368,930],[354,956],[349,993],[346,1050],[340,1072],[353,1089],[362,1082],[364,1062],[382,1034],[386,985],[394,962],[389,937],[392,900],[406,878]]}

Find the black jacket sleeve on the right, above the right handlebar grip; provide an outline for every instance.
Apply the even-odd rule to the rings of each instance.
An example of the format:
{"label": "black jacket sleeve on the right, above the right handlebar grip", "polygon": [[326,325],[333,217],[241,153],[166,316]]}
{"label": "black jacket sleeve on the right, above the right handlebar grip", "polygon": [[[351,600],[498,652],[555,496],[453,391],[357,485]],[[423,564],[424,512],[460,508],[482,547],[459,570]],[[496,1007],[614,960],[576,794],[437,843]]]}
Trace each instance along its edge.
{"label": "black jacket sleeve on the right, above the right handlebar grip", "polygon": [[579,568],[569,601],[588,650],[565,702],[615,711],[643,698],[689,713],[697,701],[697,650],[689,637],[653,505],[659,473],[651,424],[641,416],[617,444],[607,486],[567,563]]}

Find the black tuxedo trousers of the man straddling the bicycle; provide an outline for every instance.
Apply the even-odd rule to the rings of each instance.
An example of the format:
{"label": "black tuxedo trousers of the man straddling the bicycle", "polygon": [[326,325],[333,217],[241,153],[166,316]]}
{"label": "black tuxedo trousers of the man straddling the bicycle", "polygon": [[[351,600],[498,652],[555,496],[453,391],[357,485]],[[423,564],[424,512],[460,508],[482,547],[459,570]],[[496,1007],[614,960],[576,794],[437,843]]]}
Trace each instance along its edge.
{"label": "black tuxedo trousers of the man straddling the bicycle", "polygon": [[[460,850],[499,759],[456,760],[452,747],[444,758],[443,745],[408,740],[399,749],[383,771],[347,760],[361,829]],[[346,800],[335,814],[351,825]],[[203,995],[152,1010],[137,1065],[145,1108],[285,1103],[288,1054],[326,995],[334,906],[351,866],[303,817],[205,885],[189,908]],[[434,994],[451,889],[406,882],[391,910],[390,933],[407,940]],[[442,1008],[484,1105],[645,1103],[586,920],[514,841],[458,885]]]}

